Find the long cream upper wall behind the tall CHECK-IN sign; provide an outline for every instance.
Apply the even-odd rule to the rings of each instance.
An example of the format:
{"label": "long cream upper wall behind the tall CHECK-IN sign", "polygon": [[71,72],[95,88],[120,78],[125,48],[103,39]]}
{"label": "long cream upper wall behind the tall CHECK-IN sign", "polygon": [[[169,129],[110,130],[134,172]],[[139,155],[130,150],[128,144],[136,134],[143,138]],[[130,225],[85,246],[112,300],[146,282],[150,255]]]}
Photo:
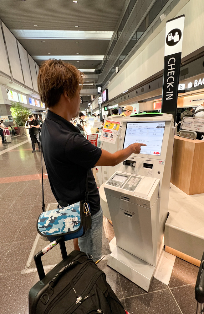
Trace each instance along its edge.
{"label": "long cream upper wall behind the tall CHECK-IN sign", "polygon": [[[183,5],[183,8],[182,8]],[[203,0],[181,0],[168,14],[167,19],[185,14],[182,56],[204,46],[204,4]],[[163,25],[163,26],[162,26]],[[162,29],[163,27],[163,29]],[[161,71],[164,67],[164,42],[166,23],[153,32],[129,62],[120,70],[108,85],[109,99],[116,97],[123,91],[139,84],[151,75]],[[156,32],[160,32],[156,35]],[[155,37],[154,37],[155,34]],[[154,37],[154,38],[153,38]],[[147,42],[149,44],[147,45]],[[146,45],[146,46],[145,46]]]}

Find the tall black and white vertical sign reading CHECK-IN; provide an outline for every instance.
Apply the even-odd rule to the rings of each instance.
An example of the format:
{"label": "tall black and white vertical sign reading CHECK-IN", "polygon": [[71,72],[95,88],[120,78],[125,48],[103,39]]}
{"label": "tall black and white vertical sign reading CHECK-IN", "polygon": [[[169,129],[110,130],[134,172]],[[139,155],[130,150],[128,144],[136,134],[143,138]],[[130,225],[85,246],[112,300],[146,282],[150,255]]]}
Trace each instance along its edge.
{"label": "tall black and white vertical sign reading CHECK-IN", "polygon": [[176,123],[184,18],[185,16],[181,15],[166,22],[161,112],[172,114],[174,123]]}

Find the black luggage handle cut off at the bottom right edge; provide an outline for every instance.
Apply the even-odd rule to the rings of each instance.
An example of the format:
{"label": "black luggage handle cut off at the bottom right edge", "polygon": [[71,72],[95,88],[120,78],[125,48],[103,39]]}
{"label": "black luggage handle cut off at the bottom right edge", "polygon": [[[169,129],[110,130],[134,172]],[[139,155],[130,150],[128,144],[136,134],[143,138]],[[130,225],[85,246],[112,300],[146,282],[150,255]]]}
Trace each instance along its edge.
{"label": "black luggage handle cut off at the bottom right edge", "polygon": [[200,313],[203,309],[204,303],[204,252],[202,255],[201,265],[196,280],[195,297],[196,301],[198,302],[197,313]]}

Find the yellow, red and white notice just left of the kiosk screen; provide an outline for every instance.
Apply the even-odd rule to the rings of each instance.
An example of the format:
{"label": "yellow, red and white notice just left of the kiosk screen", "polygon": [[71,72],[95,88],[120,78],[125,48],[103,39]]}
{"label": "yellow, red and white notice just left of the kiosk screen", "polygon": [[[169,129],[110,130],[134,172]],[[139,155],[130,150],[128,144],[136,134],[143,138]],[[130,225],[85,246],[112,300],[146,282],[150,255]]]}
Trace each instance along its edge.
{"label": "yellow, red and white notice just left of the kiosk screen", "polygon": [[115,144],[119,127],[120,127],[120,122],[106,120],[103,131],[100,136],[100,141]]}

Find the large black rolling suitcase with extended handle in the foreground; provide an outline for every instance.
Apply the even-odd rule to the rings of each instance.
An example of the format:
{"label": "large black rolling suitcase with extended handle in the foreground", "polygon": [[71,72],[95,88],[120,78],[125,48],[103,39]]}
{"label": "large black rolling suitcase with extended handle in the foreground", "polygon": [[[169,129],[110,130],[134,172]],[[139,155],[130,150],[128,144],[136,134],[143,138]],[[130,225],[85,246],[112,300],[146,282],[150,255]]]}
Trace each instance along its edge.
{"label": "large black rolling suitcase with extended handle in the foreground", "polygon": [[[41,256],[57,243],[63,260],[45,276]],[[125,314],[105,273],[83,252],[67,255],[62,237],[34,259],[40,281],[29,291],[29,314]]]}

